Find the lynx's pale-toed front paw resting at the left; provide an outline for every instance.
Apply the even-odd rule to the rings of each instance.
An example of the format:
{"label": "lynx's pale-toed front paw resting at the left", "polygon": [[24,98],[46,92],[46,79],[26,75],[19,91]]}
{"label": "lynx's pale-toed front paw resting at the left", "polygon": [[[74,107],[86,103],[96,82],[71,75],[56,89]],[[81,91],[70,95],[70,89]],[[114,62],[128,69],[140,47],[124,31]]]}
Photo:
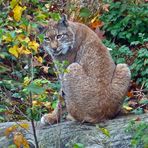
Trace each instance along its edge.
{"label": "lynx's pale-toed front paw resting at the left", "polygon": [[41,123],[43,125],[50,125],[50,124],[54,124],[58,122],[58,117],[56,115],[51,114],[45,114],[42,118],[41,118]]}

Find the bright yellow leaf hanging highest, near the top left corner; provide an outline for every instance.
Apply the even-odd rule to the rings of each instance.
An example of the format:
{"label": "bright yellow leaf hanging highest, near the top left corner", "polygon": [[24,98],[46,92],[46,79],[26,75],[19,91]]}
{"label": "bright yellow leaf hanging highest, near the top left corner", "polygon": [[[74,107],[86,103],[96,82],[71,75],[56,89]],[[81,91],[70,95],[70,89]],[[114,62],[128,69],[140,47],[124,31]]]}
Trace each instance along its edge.
{"label": "bright yellow leaf hanging highest, near the top left corner", "polygon": [[14,7],[13,9],[13,16],[14,16],[14,19],[18,22],[20,21],[21,19],[21,16],[22,16],[22,13],[23,11],[26,9],[26,7],[21,7],[19,6],[18,4]]}

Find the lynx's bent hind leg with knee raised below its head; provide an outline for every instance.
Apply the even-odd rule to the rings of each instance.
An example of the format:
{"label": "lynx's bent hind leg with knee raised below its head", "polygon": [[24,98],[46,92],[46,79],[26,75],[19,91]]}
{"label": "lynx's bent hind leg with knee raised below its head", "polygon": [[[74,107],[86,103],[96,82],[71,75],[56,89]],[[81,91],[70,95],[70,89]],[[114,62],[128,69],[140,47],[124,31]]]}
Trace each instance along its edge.
{"label": "lynx's bent hind leg with knee raised below its head", "polygon": [[97,82],[78,63],[72,63],[67,70],[62,83],[67,111],[77,121],[91,122],[98,104]]}

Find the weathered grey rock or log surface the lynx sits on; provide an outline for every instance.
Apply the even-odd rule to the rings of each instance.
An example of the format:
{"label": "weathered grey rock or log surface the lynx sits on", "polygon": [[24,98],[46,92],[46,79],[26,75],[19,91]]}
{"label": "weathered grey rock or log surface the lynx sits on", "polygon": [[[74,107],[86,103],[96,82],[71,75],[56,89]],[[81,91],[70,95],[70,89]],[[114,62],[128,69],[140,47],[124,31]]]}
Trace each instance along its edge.
{"label": "weathered grey rock or log surface the lynx sits on", "polygon": [[[142,115],[128,115],[108,120],[98,124],[110,132],[110,137],[103,134],[96,125],[89,123],[67,121],[51,126],[42,126],[39,122],[36,126],[37,138],[40,148],[72,148],[74,144],[80,143],[85,148],[130,148],[131,135],[125,132],[130,120],[139,117],[148,122],[148,113]],[[0,148],[12,144],[12,138],[6,138],[4,131],[14,125],[15,122],[0,124]],[[21,123],[20,123],[21,124]],[[30,123],[29,123],[30,124]],[[29,130],[32,131],[31,128]],[[32,134],[23,130],[23,133],[32,148],[35,147]],[[141,148],[142,146],[139,146]]]}

